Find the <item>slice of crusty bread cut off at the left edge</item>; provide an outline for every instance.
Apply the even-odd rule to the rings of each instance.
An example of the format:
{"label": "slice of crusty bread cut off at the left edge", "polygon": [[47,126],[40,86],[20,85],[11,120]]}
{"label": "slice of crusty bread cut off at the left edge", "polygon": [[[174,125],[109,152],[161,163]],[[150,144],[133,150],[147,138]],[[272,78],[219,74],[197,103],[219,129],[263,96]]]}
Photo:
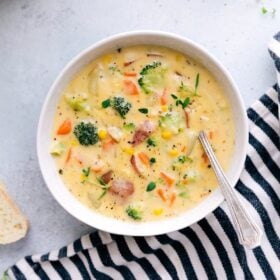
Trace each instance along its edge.
{"label": "slice of crusty bread cut off at the left edge", "polygon": [[25,237],[28,228],[28,220],[0,182],[0,244],[12,243]]}

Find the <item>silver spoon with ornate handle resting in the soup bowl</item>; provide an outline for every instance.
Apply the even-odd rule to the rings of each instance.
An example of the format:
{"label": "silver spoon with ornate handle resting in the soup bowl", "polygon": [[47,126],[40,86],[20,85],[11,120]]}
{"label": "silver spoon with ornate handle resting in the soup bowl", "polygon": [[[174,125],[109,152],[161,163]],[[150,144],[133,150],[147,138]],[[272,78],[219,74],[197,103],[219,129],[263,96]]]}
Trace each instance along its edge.
{"label": "silver spoon with ornate handle resting in the soup bowl", "polygon": [[240,244],[245,245],[250,249],[259,246],[261,243],[261,236],[263,234],[262,230],[249,216],[243,204],[237,197],[236,191],[229,184],[208,141],[206,133],[204,131],[200,131],[198,138],[217,176],[219,186],[221,187],[222,193],[230,210]]}

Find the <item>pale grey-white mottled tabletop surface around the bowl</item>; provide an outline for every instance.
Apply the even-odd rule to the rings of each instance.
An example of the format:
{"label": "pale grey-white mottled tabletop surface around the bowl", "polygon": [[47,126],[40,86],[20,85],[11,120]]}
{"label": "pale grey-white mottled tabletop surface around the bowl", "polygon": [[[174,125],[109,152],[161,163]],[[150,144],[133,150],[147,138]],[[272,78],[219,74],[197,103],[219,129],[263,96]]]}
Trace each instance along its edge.
{"label": "pale grey-white mottled tabletop surface around the bowl", "polygon": [[36,157],[41,106],[69,59],[118,32],[175,32],[218,57],[249,106],[275,82],[267,42],[280,29],[280,2],[265,5],[277,9],[275,18],[255,0],[0,0],[0,177],[31,223],[27,238],[0,247],[0,274],[92,230],[54,201]]}

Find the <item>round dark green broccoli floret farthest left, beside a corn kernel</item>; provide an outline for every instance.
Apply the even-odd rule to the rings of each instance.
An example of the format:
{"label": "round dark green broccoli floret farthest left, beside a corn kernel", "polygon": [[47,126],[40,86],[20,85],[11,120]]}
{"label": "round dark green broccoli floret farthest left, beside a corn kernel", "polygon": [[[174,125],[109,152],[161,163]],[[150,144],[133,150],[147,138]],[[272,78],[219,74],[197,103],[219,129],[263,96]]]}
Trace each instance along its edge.
{"label": "round dark green broccoli floret farthest left, beside a corn kernel", "polygon": [[74,134],[83,146],[94,145],[98,142],[97,127],[92,123],[81,122],[74,128]]}

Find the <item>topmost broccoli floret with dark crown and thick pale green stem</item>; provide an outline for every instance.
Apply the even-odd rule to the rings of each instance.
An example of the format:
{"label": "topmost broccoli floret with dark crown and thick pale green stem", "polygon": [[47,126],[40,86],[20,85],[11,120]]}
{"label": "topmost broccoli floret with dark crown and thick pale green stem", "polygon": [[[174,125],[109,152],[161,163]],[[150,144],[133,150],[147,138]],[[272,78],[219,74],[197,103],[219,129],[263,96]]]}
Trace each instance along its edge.
{"label": "topmost broccoli floret with dark crown and thick pale green stem", "polygon": [[166,69],[161,66],[161,62],[148,64],[141,70],[138,84],[146,94],[149,94],[163,86],[165,72]]}

